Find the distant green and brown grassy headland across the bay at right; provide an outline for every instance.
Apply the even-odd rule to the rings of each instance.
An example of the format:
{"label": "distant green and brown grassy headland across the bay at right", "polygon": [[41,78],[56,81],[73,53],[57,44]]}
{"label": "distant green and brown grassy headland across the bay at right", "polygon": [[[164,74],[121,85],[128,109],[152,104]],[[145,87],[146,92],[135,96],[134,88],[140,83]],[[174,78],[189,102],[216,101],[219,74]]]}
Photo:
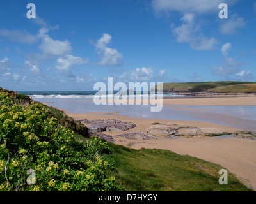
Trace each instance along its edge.
{"label": "distant green and brown grassy headland across the bay at right", "polygon": [[163,92],[256,93],[256,82],[164,83]]}

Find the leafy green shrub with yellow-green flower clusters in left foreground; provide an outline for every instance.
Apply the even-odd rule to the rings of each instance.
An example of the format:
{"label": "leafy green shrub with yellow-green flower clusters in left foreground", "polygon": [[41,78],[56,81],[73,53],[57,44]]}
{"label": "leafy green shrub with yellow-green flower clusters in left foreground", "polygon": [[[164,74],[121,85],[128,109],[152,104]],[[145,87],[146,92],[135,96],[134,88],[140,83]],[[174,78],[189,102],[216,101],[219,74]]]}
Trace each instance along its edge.
{"label": "leafy green shrub with yellow-green flower clusters in left foreground", "polygon": [[122,190],[105,173],[108,143],[79,142],[40,103],[16,105],[5,92],[0,101],[0,191]]}

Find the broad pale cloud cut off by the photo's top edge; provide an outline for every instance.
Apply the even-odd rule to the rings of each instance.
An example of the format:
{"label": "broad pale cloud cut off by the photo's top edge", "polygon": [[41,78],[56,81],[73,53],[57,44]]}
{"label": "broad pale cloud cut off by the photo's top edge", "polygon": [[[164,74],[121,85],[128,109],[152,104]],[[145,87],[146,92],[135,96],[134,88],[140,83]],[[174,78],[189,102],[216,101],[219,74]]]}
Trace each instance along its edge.
{"label": "broad pale cloud cut off by the photo's top edge", "polygon": [[237,0],[152,0],[152,7],[159,13],[163,11],[179,11],[180,13],[199,13],[208,14],[218,11],[218,6],[221,3],[231,5]]}

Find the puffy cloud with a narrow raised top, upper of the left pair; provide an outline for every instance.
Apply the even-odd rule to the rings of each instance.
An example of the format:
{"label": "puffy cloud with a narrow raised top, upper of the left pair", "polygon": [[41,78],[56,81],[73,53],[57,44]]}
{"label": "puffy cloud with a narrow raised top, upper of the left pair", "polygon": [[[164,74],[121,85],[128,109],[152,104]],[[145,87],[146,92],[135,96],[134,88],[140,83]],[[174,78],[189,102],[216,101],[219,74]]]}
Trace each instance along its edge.
{"label": "puffy cloud with a narrow raised top, upper of the left pair", "polygon": [[42,50],[44,55],[60,56],[69,54],[72,51],[71,44],[68,40],[54,40],[46,34],[48,31],[48,29],[42,28],[38,32],[38,37],[42,39],[42,44],[39,46],[39,48]]}

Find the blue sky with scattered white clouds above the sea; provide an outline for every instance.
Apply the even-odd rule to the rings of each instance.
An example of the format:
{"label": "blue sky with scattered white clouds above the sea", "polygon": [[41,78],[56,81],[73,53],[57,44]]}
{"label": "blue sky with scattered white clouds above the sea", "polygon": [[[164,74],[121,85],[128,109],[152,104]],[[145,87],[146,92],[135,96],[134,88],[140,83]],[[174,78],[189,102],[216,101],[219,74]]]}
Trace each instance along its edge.
{"label": "blue sky with scattered white clouds above the sea", "polygon": [[108,77],[255,82],[255,34],[253,0],[1,0],[0,87],[93,91]]}

